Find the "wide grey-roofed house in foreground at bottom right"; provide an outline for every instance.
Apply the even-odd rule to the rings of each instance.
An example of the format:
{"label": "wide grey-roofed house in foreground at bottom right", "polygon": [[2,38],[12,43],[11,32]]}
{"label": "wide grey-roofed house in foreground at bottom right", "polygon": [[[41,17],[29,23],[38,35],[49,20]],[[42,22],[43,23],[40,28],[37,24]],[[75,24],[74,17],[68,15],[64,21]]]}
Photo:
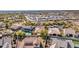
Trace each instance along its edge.
{"label": "wide grey-roofed house in foreground at bottom right", "polygon": [[52,45],[50,48],[74,48],[72,40],[52,39]]}

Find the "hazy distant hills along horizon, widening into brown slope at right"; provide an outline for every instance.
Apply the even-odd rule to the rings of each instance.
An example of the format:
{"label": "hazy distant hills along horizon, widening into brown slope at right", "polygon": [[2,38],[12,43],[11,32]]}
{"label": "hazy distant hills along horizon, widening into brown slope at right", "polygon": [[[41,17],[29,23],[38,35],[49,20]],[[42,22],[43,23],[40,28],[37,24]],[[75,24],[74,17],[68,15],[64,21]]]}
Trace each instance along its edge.
{"label": "hazy distant hills along horizon, widening into brown slope at right", "polygon": [[68,18],[79,19],[79,10],[0,10],[0,14],[10,13],[60,15]]}

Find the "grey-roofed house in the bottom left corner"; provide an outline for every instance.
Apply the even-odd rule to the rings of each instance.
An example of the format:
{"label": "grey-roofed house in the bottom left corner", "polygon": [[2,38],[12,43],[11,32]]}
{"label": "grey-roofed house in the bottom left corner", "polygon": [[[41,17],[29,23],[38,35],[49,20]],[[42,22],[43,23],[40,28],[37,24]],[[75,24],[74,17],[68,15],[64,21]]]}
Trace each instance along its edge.
{"label": "grey-roofed house in the bottom left corner", "polygon": [[12,40],[13,38],[11,36],[0,35],[0,48],[11,48]]}

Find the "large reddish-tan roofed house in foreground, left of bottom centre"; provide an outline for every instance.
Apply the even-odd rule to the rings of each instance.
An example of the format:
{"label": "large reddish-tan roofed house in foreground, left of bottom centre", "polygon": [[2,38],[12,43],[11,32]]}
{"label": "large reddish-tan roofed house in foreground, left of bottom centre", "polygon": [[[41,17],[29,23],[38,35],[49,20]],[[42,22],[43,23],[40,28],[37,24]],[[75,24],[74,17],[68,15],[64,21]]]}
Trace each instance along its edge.
{"label": "large reddish-tan roofed house in foreground, left of bottom centre", "polygon": [[[19,47],[20,44],[17,43],[17,48]],[[27,36],[23,39],[23,45],[20,48],[40,48],[40,41],[36,36]]]}

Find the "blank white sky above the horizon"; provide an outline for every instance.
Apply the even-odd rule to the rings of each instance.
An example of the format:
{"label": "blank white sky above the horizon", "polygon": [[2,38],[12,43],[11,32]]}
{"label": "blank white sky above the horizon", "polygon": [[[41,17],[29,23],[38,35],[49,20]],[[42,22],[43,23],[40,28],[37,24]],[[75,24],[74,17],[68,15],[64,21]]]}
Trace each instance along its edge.
{"label": "blank white sky above the horizon", "polygon": [[0,0],[0,10],[68,10],[79,9],[78,4],[78,0]]}

